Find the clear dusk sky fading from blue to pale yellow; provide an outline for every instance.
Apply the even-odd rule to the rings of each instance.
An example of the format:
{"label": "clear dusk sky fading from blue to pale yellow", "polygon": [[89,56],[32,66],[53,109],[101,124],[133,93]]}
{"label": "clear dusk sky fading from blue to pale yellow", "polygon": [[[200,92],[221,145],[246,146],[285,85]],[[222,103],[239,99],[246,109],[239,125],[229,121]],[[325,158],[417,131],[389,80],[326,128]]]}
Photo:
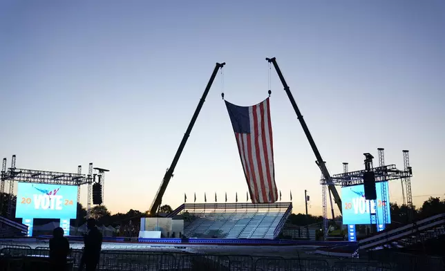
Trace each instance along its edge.
{"label": "clear dusk sky fading from blue to pale yellow", "polygon": [[[176,208],[195,192],[197,202],[205,192],[244,200],[220,93],[247,106],[270,83],[276,185],[283,201],[292,191],[297,213],[307,189],[309,212],[321,214],[314,153],[265,57],[276,57],[331,174],[342,162],[363,169],[363,153],[377,157],[378,147],[401,169],[408,149],[415,205],[445,196],[444,1],[2,0],[0,48],[0,155],[16,154],[18,168],[109,169],[112,213],[149,209],[226,62],[162,203]],[[401,203],[400,180],[390,200]]]}

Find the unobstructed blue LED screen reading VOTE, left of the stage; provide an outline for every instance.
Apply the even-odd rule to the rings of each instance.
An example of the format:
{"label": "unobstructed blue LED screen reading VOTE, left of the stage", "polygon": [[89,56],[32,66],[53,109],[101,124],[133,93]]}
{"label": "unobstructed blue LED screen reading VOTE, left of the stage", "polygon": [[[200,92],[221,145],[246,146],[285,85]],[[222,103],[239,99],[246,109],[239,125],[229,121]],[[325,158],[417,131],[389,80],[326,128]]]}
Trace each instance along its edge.
{"label": "unobstructed blue LED screen reading VOTE, left of the stage", "polygon": [[17,218],[76,218],[77,186],[19,183]]}

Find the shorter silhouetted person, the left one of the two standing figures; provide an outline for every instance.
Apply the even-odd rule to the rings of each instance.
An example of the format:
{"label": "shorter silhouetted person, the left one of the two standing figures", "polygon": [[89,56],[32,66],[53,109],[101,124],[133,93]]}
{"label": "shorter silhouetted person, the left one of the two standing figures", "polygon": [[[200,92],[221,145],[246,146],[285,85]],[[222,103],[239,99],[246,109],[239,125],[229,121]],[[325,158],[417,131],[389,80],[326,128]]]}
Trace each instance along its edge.
{"label": "shorter silhouetted person, the left one of the two standing figures", "polygon": [[50,239],[50,265],[53,271],[66,270],[66,257],[70,252],[70,243],[64,237],[64,229],[56,227]]}

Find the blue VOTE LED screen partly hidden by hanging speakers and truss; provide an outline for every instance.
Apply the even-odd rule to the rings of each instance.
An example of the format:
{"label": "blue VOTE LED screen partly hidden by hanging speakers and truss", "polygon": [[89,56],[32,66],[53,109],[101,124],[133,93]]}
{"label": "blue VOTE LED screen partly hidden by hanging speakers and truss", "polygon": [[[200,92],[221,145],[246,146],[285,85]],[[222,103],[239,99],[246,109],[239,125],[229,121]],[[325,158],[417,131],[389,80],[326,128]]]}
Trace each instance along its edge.
{"label": "blue VOTE LED screen partly hidden by hanging speakers and truss", "polygon": [[[386,187],[386,204],[382,203],[381,186]],[[377,224],[384,223],[383,208],[386,208],[388,214],[388,224],[391,223],[389,189],[388,182],[375,184],[377,191],[377,200],[365,200],[365,189],[363,185],[354,185],[350,187],[341,187],[341,201],[343,203],[343,224],[370,224],[370,209],[372,213],[377,209]]]}

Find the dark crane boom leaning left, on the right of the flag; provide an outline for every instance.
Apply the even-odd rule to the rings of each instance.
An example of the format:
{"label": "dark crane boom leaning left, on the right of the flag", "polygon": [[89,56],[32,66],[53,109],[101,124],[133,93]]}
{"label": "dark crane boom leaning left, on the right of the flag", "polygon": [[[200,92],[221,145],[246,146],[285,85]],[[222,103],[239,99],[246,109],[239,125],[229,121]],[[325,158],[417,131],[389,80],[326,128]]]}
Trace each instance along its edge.
{"label": "dark crane boom leaning left, on the right of the flag", "polygon": [[[305,132],[305,135],[307,137],[307,140],[309,140],[310,147],[312,147],[312,151],[314,151],[315,157],[316,157],[316,165],[319,166],[321,170],[321,174],[323,174],[323,177],[327,182],[330,181],[331,176],[329,174],[328,168],[326,168],[325,162],[323,161],[323,158],[321,158],[321,154],[319,152],[319,149],[316,147],[316,144],[314,142],[314,138],[312,138],[309,129],[307,128],[306,122],[303,119],[303,115],[301,115],[301,112],[299,110],[299,107],[296,106],[296,102],[294,100],[294,96],[290,92],[289,86],[287,86],[286,80],[283,77],[283,73],[281,73],[280,67],[278,67],[278,64],[276,63],[276,58],[266,58],[267,62],[272,63],[274,65],[275,71],[278,74],[278,77],[281,80],[281,83],[283,84],[284,90],[286,91],[287,97],[289,97],[290,103],[294,107],[294,111],[296,113],[296,116],[298,117],[301,127],[303,127],[303,131]],[[341,198],[339,196],[339,193],[337,192],[337,189],[335,189],[334,185],[328,185],[330,192],[332,193],[332,196],[334,196],[334,202],[337,204],[337,207],[339,207],[340,213],[341,213]],[[332,209],[332,216],[334,216],[334,209]]]}

